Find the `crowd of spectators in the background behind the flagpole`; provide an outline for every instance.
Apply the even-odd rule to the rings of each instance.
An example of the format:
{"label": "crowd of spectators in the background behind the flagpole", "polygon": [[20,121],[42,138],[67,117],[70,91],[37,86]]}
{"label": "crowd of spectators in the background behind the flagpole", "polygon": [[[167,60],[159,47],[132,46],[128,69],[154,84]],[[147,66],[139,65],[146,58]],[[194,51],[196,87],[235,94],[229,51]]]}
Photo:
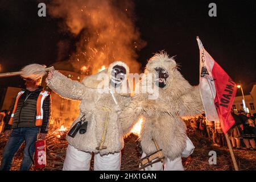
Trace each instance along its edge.
{"label": "crowd of spectators in the background behind the flagpole", "polygon": [[[232,147],[239,150],[256,150],[256,114],[244,111],[234,113],[233,110],[231,114],[235,120],[235,124],[228,131]],[[214,146],[227,146],[221,126],[217,122],[208,121],[204,113],[199,117],[189,119],[188,122],[192,129],[198,130],[201,137],[208,138]]]}

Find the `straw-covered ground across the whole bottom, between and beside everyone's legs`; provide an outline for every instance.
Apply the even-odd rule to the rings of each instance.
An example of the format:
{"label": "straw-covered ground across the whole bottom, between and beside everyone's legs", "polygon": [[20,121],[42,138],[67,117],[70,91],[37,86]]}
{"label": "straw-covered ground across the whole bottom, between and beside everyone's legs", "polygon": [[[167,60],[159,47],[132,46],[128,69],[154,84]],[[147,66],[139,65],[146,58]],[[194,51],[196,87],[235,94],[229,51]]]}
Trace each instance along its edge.
{"label": "straw-covered ground across the whole bottom, between and beside everyone's legs", "polygon": [[[188,129],[189,138],[196,146],[195,151],[189,158],[183,159],[185,170],[188,171],[217,171],[217,170],[234,170],[232,160],[229,154],[228,147],[216,147],[207,138],[202,138],[199,131]],[[66,131],[57,131],[57,128],[51,129],[47,137],[47,167],[43,170],[55,171],[61,170],[65,159],[65,150],[67,148],[67,141],[65,140]],[[125,147],[122,150],[122,165],[121,170],[138,169],[137,160],[141,154],[137,148],[138,136],[131,134],[125,139]],[[7,139],[0,135],[0,159],[2,159],[3,148]],[[24,144],[20,147],[13,160],[11,170],[18,170],[22,162],[22,150]],[[209,164],[209,152],[215,151],[217,154],[217,163]],[[256,170],[256,151],[248,150],[234,150],[236,155],[238,167],[240,170]],[[91,169],[93,170],[93,160]],[[31,169],[32,170],[32,169]]]}

